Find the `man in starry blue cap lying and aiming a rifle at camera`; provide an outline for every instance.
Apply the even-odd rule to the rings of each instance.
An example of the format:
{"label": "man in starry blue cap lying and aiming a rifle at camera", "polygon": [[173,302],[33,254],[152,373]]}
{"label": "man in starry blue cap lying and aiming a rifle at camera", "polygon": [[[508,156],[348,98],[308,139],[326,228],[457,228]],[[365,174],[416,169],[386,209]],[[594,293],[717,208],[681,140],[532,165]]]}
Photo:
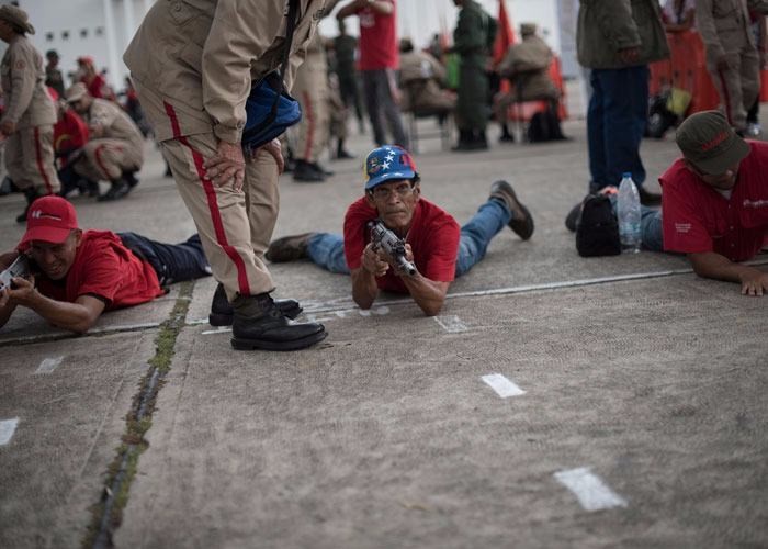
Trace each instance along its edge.
{"label": "man in starry blue cap lying and aiming a rifle at camera", "polygon": [[[533,219],[506,181],[490,188],[490,197],[463,227],[421,197],[420,178],[410,155],[395,145],[373,149],[364,164],[365,193],[345,216],[343,237],[307,233],[274,240],[270,261],[308,257],[320,267],[352,276],[352,299],[370,309],[381,290],[408,293],[425,314],[440,312],[448,288],[485,256],[490,239],[505,225],[527,240]],[[405,258],[415,272],[376,247],[369,224],[380,221],[404,240]]]}

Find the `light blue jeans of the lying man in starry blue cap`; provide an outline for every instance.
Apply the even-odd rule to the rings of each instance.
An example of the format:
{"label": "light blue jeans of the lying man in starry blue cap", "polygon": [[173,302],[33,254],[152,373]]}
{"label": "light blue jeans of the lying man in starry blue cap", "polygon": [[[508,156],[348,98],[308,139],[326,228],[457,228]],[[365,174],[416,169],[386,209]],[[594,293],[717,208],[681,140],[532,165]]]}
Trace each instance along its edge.
{"label": "light blue jeans of the lying man in starry blue cap", "polygon": [[[477,213],[461,228],[456,277],[461,277],[485,257],[490,239],[512,219],[502,202],[490,199],[479,206]],[[315,233],[307,243],[307,256],[324,269],[349,274],[345,258],[343,237],[334,233]]]}

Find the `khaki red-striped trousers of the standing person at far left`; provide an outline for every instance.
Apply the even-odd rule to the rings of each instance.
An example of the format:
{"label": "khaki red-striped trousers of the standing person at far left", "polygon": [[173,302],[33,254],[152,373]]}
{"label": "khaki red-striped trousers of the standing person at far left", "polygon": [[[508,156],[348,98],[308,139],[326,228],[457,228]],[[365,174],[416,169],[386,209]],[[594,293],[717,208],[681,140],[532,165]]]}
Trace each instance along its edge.
{"label": "khaki red-striped trousers of the standing person at far left", "polygon": [[5,141],[5,169],[21,190],[34,188],[38,194],[59,191],[54,167],[54,126],[19,130]]}

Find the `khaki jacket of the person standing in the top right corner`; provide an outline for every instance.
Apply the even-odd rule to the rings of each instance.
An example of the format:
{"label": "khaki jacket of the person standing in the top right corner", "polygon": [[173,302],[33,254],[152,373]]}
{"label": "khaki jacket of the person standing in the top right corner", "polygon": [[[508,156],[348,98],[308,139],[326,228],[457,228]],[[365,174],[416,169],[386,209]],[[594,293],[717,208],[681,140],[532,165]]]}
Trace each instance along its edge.
{"label": "khaki jacket of the person standing in the top right corner", "polygon": [[697,0],[696,26],[711,59],[739,51],[745,45],[755,47],[749,30],[749,8],[765,14],[765,0]]}

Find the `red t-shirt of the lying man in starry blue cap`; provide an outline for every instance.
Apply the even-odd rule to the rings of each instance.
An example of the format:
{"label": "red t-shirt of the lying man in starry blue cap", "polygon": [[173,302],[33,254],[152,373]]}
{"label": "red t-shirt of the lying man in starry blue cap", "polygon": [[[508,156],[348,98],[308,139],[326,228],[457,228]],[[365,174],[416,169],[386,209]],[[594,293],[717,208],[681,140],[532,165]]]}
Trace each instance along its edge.
{"label": "red t-shirt of the lying man in starry blue cap", "polygon": [[[352,203],[345,215],[345,256],[350,269],[362,266],[363,249],[371,240],[368,222],[379,217],[365,198]],[[430,280],[451,282],[456,274],[456,255],[461,228],[449,213],[431,202],[420,199],[414,210],[406,242],[414,251],[414,262],[419,272]],[[380,289],[388,292],[408,293],[400,277],[389,268],[386,274],[376,278]]]}

